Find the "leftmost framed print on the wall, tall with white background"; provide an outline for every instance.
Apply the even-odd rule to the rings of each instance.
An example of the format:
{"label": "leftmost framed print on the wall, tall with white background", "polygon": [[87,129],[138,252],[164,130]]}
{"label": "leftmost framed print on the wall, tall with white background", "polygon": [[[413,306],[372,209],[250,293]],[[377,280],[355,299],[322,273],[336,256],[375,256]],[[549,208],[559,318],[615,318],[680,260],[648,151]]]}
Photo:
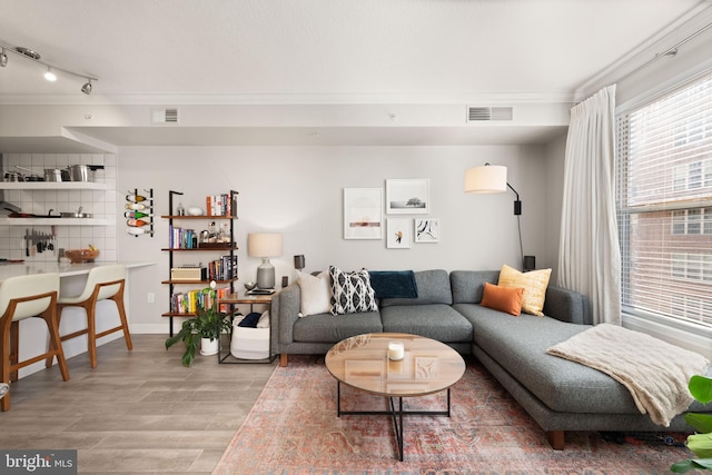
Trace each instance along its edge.
{"label": "leftmost framed print on the wall, tall with white background", "polygon": [[383,239],[382,205],[382,188],[344,188],[344,239]]}

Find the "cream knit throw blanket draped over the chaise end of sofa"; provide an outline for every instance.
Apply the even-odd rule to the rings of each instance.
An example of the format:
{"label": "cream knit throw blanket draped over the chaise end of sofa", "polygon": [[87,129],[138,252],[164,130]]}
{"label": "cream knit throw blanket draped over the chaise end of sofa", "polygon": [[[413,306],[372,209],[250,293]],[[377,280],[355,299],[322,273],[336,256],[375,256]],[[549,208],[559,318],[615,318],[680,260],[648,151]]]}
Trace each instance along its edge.
{"label": "cream knit throw blanket draped over the chaise end of sofa", "polygon": [[641,414],[669,427],[694,400],[688,389],[693,375],[704,375],[710,362],[694,352],[650,335],[600,324],[546,353],[595,368],[624,385]]}

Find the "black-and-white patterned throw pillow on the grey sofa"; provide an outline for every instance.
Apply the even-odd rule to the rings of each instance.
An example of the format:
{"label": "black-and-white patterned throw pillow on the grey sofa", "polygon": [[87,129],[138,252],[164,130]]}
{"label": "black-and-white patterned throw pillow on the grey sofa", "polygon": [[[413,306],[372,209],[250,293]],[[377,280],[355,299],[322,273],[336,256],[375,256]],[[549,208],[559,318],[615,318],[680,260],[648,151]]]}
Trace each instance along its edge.
{"label": "black-and-white patterned throw pillow on the grey sofa", "polygon": [[332,276],[332,315],[376,311],[376,296],[370,287],[368,270],[345,273],[329,266]]}

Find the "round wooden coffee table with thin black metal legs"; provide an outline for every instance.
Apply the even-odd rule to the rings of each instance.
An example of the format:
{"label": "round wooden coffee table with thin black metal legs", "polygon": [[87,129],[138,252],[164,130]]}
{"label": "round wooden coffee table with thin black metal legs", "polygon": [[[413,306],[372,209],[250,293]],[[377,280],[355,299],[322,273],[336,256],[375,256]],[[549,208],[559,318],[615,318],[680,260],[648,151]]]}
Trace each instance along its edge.
{"label": "round wooden coffee table with thin black metal legs", "polygon": [[[388,358],[388,345],[402,343],[405,356]],[[449,388],[465,374],[465,360],[449,346],[417,335],[365,334],[337,343],[326,354],[326,367],[337,382],[337,415],[389,415],[403,461],[403,416],[443,415],[449,417]],[[342,384],[387,397],[390,410],[342,410]],[[405,410],[404,397],[418,397],[447,390],[443,410]],[[397,399],[397,404],[396,404]],[[397,407],[396,407],[397,406]]]}

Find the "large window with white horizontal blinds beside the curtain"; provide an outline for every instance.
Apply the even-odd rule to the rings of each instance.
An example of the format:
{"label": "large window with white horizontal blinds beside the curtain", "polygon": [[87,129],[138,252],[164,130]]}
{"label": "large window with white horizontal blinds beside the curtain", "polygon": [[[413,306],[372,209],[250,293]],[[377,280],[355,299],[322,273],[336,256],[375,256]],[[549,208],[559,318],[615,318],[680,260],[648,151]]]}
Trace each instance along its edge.
{"label": "large window with white horizontal blinds beside the curtain", "polygon": [[712,328],[712,72],[616,115],[623,309]]}

